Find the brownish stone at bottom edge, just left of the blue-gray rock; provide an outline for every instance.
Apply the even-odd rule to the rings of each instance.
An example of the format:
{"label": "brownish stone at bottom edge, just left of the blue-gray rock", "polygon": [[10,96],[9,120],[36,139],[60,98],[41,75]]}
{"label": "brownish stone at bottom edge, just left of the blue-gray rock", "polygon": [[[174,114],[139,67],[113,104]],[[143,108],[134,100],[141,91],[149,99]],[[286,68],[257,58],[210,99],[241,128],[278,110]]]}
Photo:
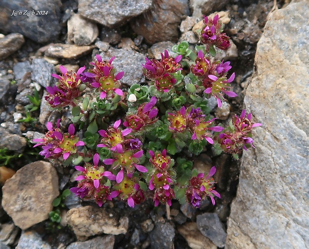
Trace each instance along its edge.
{"label": "brownish stone at bottom edge, just left of the blue-gray rock", "polygon": [[177,231],[186,240],[191,249],[217,249],[217,246],[211,240],[201,234],[194,222],[177,226]]}

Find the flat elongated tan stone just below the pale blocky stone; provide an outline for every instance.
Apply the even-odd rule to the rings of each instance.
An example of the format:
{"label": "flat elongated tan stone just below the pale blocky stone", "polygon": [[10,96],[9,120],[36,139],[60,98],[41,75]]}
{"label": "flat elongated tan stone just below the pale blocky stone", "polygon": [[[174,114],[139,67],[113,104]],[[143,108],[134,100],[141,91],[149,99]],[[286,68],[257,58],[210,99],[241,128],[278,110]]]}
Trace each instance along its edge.
{"label": "flat elongated tan stone just below the pale blocky stone", "polygon": [[95,46],[78,46],[75,44],[53,43],[46,52],[46,56],[64,59],[77,59],[92,51]]}

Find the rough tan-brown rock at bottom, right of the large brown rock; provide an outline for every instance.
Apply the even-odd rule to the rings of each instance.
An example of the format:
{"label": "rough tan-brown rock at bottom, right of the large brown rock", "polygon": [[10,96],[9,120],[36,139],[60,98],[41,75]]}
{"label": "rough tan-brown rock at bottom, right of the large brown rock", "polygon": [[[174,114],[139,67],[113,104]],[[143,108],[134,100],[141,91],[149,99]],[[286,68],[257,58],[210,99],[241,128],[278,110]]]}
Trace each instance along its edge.
{"label": "rough tan-brown rock at bottom, right of the large brown rock", "polygon": [[77,236],[98,234],[126,234],[129,227],[128,217],[118,217],[112,211],[97,207],[74,208],[67,213],[67,223]]}

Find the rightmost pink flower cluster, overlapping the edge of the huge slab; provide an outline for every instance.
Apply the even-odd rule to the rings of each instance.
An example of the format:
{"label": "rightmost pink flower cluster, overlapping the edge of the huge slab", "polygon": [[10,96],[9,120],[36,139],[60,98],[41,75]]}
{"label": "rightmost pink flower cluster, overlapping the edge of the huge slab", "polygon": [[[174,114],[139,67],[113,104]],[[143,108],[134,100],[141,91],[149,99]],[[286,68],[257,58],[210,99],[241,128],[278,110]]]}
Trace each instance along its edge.
{"label": "rightmost pink flower cluster, overlapping the edge of the huge slab", "polygon": [[246,110],[243,110],[240,117],[235,114],[230,126],[224,133],[219,134],[217,140],[224,152],[236,155],[241,148],[245,150],[247,147],[254,148],[251,130],[262,124],[252,123],[251,118],[252,114],[246,115]]}

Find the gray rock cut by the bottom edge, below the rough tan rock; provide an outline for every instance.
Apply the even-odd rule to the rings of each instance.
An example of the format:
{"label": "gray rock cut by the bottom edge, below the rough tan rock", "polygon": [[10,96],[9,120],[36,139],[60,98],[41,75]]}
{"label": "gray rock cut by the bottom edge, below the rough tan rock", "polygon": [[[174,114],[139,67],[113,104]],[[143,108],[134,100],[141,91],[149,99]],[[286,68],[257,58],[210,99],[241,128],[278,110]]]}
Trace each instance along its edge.
{"label": "gray rock cut by the bottom edge, below the rough tan rock", "polygon": [[74,242],[70,244],[66,249],[86,249],[86,248],[104,248],[113,249],[115,244],[115,236],[98,236],[94,239],[85,242]]}

